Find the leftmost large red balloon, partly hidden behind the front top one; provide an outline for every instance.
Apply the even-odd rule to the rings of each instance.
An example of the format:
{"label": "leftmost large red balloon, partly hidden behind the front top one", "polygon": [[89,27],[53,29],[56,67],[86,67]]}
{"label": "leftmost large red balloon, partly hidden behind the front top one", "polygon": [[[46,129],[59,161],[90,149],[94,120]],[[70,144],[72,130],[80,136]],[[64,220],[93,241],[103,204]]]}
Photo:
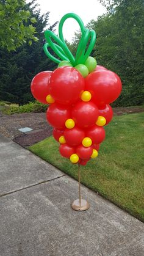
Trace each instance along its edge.
{"label": "leftmost large red balloon, partly hidden behind the front top one", "polygon": [[34,98],[41,103],[48,104],[46,96],[49,94],[48,79],[52,71],[43,71],[38,73],[31,82],[31,92]]}

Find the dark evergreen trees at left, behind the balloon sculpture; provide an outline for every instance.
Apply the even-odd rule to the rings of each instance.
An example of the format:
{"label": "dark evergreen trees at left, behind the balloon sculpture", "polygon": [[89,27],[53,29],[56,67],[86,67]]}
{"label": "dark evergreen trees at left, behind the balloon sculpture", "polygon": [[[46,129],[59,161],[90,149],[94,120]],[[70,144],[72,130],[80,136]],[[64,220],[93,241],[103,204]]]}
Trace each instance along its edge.
{"label": "dark evergreen trees at left, behind the balloon sculpture", "polygon": [[[32,1],[33,5],[34,2]],[[26,8],[31,13],[31,16],[37,20],[34,26],[38,42],[33,42],[32,45],[24,43],[23,46],[10,53],[5,49],[0,49],[1,100],[19,104],[34,101],[30,90],[32,78],[40,71],[52,70],[56,67],[43,52],[45,43],[43,31],[46,26],[51,30],[54,29],[56,23],[49,26],[49,12],[41,15],[40,10],[35,9],[32,4],[27,5]]]}

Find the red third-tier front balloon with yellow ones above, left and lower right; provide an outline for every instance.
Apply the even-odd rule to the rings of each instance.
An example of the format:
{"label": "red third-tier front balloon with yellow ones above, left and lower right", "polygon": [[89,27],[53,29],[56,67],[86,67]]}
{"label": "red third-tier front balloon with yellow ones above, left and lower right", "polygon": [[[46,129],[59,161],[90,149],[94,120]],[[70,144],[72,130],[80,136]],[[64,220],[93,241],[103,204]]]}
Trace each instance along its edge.
{"label": "red third-tier front balloon with yellow ones above, left and lower right", "polygon": [[85,133],[75,126],[73,129],[66,129],[64,131],[64,137],[68,145],[77,146],[82,143]]}

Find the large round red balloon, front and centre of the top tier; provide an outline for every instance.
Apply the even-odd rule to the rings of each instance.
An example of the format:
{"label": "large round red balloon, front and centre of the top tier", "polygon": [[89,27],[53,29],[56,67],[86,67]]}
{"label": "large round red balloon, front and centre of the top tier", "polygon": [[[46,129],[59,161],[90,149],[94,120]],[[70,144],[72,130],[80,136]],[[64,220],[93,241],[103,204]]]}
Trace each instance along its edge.
{"label": "large round red balloon, front and centre of the top tier", "polygon": [[60,67],[52,72],[48,86],[55,101],[61,104],[72,104],[81,97],[85,82],[76,68]]}

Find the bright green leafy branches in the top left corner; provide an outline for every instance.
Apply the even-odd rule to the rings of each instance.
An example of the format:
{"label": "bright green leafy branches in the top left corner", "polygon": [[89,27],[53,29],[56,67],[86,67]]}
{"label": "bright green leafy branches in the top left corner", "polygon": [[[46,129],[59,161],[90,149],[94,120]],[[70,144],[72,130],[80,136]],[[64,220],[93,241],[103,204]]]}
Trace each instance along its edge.
{"label": "bright green leafy branches in the top left corner", "polygon": [[8,51],[15,50],[29,40],[37,41],[33,26],[37,20],[26,9],[24,0],[1,0],[0,3],[0,44]]}

